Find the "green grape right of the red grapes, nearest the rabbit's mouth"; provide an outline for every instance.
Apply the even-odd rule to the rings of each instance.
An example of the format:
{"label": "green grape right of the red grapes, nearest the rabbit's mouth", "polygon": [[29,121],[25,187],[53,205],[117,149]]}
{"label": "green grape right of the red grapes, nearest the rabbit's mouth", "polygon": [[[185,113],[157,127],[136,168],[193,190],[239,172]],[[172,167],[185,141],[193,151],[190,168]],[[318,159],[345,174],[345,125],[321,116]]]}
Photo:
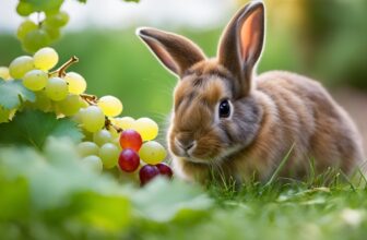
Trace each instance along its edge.
{"label": "green grape right of the red grapes, nearest the rabbit's mouth", "polygon": [[141,146],[139,156],[146,164],[156,165],[164,160],[167,152],[158,142],[149,141]]}

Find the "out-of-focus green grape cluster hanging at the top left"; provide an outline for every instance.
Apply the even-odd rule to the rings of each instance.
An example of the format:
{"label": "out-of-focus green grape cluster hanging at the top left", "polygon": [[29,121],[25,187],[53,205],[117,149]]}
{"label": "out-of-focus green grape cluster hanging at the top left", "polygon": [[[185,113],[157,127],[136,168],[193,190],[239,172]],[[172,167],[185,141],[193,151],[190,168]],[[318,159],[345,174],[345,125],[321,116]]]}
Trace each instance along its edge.
{"label": "out-of-focus green grape cluster hanging at the top left", "polygon": [[[27,19],[19,26],[16,36],[28,52],[35,52],[57,40],[60,29],[69,22],[68,13],[60,11],[62,1],[49,2],[37,4],[34,1],[21,0],[17,3],[16,12]],[[36,15],[36,22],[28,17],[33,14]]]}

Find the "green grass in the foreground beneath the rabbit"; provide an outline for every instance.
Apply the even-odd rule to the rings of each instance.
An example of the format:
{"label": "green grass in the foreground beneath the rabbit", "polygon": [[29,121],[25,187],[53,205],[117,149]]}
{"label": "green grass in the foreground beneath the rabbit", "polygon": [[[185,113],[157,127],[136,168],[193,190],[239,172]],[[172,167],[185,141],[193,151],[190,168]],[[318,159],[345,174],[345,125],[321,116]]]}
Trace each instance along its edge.
{"label": "green grass in the foreground beneath the rabbit", "polygon": [[[366,181],[343,179],[336,170],[305,181],[272,178],[236,191],[214,183],[210,214],[190,223],[138,226],[141,239],[366,239]],[[334,179],[334,181],[330,181]],[[144,230],[141,230],[144,229]]]}

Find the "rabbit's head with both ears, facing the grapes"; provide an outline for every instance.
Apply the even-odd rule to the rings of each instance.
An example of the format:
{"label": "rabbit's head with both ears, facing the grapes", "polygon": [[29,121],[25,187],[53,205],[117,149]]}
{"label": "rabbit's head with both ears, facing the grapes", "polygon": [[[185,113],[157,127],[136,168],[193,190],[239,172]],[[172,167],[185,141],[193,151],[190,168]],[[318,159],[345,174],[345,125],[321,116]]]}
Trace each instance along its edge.
{"label": "rabbit's head with both ears, facing the grapes", "polygon": [[137,34],[179,77],[167,136],[171,154],[213,164],[251,143],[262,116],[252,97],[252,74],[264,41],[262,2],[236,13],[216,58],[206,58],[191,40],[173,33],[143,27]]}

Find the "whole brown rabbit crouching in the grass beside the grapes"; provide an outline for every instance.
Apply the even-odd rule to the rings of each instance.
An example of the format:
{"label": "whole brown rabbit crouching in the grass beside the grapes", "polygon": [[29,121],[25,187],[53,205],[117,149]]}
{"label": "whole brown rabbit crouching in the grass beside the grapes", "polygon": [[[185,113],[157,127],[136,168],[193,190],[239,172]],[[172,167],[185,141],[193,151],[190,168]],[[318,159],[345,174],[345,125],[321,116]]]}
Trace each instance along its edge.
{"label": "whole brown rabbit crouching in the grass beside the grapes", "polygon": [[283,177],[305,177],[310,160],[317,172],[351,173],[362,163],[355,124],[320,83],[281,71],[254,74],[264,41],[262,2],[236,13],[214,59],[171,33],[140,28],[138,35],[180,79],[167,140],[183,178],[205,182],[220,169],[239,182],[265,180],[291,148]]}

